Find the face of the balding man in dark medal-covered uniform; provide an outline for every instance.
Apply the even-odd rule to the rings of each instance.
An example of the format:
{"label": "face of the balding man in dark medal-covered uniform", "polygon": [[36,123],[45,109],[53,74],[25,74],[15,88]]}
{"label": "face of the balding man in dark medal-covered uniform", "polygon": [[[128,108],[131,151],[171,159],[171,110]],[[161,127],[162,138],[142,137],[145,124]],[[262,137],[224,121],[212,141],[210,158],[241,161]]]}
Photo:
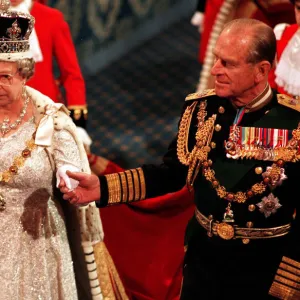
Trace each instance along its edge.
{"label": "face of the balding man in dark medal-covered uniform", "polygon": [[220,97],[248,99],[255,86],[255,66],[246,62],[251,37],[231,31],[225,30],[220,35],[214,50],[211,74],[215,76],[215,91]]}

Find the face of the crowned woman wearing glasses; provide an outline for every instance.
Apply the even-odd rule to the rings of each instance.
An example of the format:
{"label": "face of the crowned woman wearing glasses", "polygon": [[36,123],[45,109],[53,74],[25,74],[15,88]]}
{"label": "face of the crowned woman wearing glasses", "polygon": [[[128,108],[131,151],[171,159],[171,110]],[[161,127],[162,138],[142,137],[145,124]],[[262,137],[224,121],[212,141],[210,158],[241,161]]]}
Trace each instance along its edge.
{"label": "face of the crowned woman wearing glasses", "polygon": [[22,93],[25,80],[17,71],[17,63],[0,61],[0,107],[12,104]]}

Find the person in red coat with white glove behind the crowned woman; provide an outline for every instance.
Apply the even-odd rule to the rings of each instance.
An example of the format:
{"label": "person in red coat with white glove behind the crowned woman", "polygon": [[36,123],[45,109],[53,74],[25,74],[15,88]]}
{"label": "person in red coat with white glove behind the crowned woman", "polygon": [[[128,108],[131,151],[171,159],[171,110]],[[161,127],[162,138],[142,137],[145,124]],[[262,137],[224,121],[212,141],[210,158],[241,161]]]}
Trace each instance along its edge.
{"label": "person in red coat with white glove behind the crowned woman", "polygon": [[[92,141],[85,132],[88,115],[85,81],[68,23],[60,11],[43,5],[46,4],[46,0],[10,0],[10,2],[15,9],[30,12],[35,18],[33,33],[35,37],[30,41],[36,62],[35,74],[28,81],[28,85],[53,101],[63,102],[67,106],[74,123],[79,127],[87,152],[95,157],[90,154],[89,147]],[[59,68],[59,78],[53,72],[53,58]],[[65,91],[65,97],[62,96],[61,88]],[[105,174],[119,170],[119,166],[114,162],[98,158],[98,169],[101,163],[101,169]]]}

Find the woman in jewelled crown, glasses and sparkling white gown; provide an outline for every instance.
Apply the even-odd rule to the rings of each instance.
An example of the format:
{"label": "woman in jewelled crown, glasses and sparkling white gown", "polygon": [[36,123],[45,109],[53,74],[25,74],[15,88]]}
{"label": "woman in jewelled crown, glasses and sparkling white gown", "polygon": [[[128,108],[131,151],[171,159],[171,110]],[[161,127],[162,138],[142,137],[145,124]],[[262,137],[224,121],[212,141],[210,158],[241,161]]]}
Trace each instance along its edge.
{"label": "woman in jewelled crown, glasses and sparkling white gown", "polygon": [[[86,153],[67,109],[26,86],[34,73],[28,42],[33,17],[10,11],[9,1],[0,0],[0,24],[0,299],[76,300],[70,244],[55,185],[63,178],[70,188],[76,186],[66,170],[89,172]],[[103,260],[108,253],[99,214],[94,206],[77,211],[71,218],[75,234],[70,241],[77,246],[79,236],[83,246],[73,253],[75,268],[81,268],[79,297],[103,299],[101,283],[106,280],[107,288],[108,270],[116,272]],[[78,257],[85,257],[86,263]],[[118,284],[118,299],[126,299]]]}

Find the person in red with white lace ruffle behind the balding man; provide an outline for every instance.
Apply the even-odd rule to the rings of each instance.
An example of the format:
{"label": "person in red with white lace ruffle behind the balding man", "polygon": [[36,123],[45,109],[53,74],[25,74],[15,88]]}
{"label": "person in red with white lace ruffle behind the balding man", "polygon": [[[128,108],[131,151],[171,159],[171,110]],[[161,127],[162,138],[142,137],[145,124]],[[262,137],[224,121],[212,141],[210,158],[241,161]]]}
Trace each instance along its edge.
{"label": "person in red with white lace ruffle behind the balding man", "polygon": [[295,24],[280,23],[274,28],[277,39],[277,63],[269,76],[270,85],[281,94],[297,100],[300,97],[300,1],[294,5]]}

